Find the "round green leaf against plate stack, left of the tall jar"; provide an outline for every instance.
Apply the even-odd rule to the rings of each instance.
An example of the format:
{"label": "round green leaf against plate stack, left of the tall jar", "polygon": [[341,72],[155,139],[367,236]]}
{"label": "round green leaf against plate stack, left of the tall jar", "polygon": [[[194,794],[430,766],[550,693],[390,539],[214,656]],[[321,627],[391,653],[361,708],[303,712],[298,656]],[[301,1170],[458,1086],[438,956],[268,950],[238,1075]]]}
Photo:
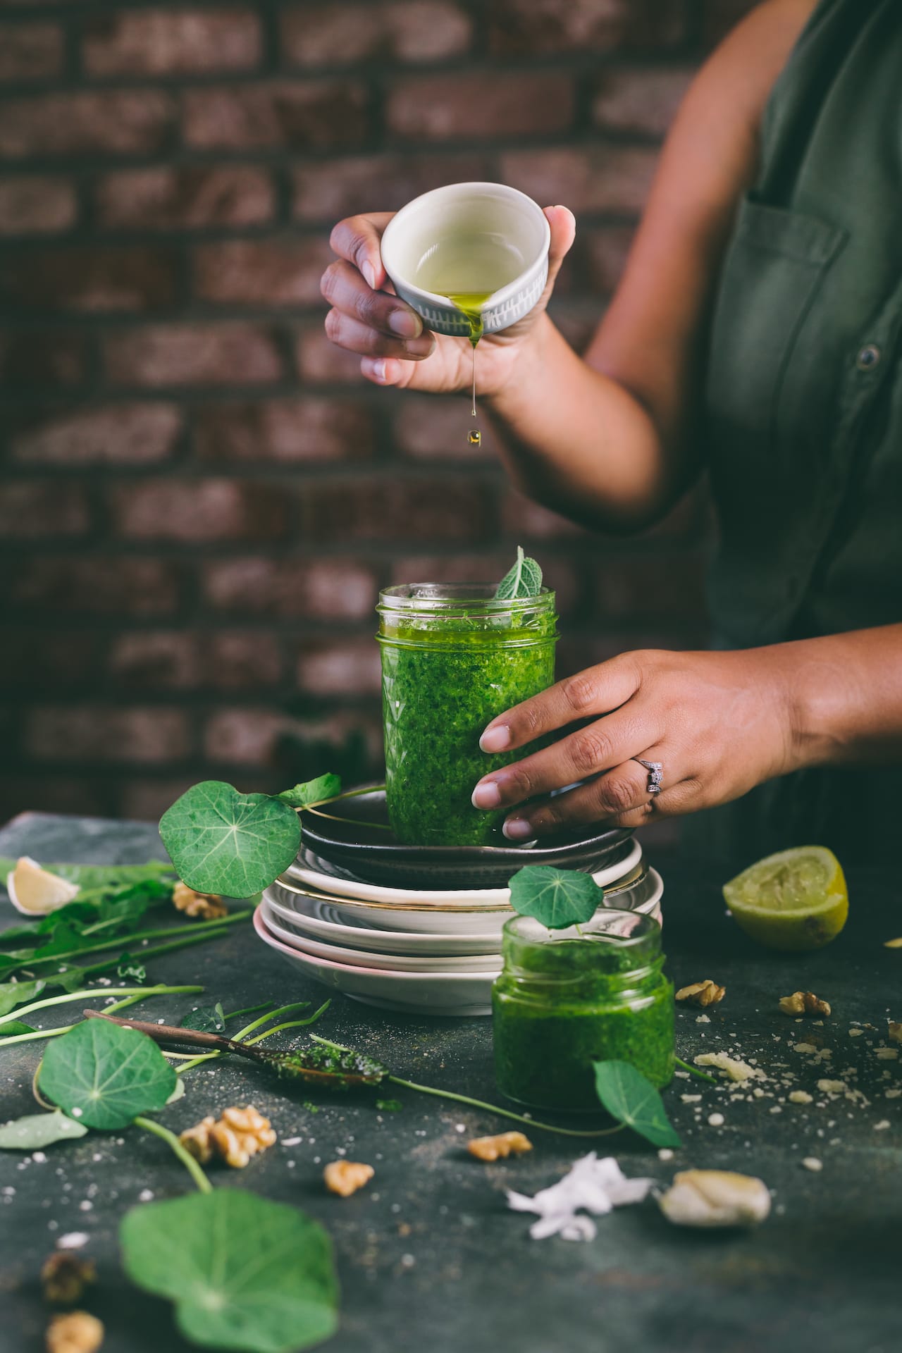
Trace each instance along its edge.
{"label": "round green leaf against plate stack, left of the tall jar", "polygon": [[220,779],[206,779],[166,809],[160,835],[189,888],[249,897],[292,863],[300,823],[280,798],[239,794]]}

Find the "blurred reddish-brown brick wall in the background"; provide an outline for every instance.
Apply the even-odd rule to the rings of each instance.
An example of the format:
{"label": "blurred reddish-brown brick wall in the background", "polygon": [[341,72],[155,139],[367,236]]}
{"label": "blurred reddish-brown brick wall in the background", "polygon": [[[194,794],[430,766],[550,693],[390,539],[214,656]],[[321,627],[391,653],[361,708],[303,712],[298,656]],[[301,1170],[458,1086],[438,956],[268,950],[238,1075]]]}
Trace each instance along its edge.
{"label": "blurred reddish-brown brick wall in the background", "polygon": [[[580,345],[742,0],[0,0],[0,819],[379,758],[380,584],[559,589],[560,670],[705,639],[703,510],[587,536],[322,330],[342,215],[499,179],[579,218]],[[484,438],[487,441],[488,438]]]}

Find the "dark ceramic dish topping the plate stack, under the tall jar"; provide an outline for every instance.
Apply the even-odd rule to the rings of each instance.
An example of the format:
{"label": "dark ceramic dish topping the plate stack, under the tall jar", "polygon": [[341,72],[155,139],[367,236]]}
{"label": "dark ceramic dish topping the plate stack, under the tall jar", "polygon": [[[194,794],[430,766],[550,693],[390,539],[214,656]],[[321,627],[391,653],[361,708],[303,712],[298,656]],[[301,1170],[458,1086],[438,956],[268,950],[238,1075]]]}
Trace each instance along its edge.
{"label": "dark ceramic dish topping the plate stack, under the tall jar", "polygon": [[[330,813],[334,816],[323,816]],[[341,821],[335,819],[341,817]],[[633,833],[622,827],[584,836],[544,836],[523,846],[402,846],[388,827],[385,790],[341,798],[300,815],[300,863],[311,855],[343,878],[396,888],[506,888],[523,865],[554,865],[584,874],[625,858]],[[307,855],[307,859],[304,859]]]}

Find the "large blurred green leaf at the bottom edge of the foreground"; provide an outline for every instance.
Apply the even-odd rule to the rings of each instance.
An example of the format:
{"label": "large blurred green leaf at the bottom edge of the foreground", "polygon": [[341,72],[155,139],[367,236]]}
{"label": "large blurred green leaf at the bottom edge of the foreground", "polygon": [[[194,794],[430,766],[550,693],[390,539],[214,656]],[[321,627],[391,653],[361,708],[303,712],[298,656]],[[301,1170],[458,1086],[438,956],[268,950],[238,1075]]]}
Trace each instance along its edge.
{"label": "large blurred green leaf at the bottom edge of the foreground", "polygon": [[285,1203],[215,1189],[134,1207],[119,1239],[126,1273],[176,1306],[206,1348],[298,1353],[335,1333],[329,1234]]}

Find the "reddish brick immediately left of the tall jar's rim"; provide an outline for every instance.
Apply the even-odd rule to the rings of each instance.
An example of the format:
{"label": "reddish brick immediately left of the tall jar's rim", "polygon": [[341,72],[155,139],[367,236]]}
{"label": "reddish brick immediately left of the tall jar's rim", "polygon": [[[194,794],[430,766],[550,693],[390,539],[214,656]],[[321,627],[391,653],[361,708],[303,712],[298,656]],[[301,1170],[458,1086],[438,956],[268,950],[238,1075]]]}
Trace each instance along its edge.
{"label": "reddish brick immediately left of the tall jar's rim", "polygon": [[203,571],[206,605],[233,614],[368,620],[376,594],[373,571],[343,559],[215,559]]}

